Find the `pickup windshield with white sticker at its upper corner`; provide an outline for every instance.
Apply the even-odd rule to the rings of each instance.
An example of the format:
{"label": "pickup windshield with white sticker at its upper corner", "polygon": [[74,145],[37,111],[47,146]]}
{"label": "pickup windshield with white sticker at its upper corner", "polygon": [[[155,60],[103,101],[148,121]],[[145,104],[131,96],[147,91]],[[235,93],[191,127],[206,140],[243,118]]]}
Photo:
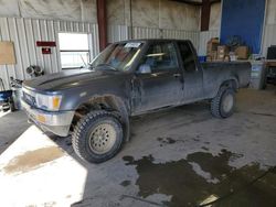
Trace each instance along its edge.
{"label": "pickup windshield with white sticker at its upper corner", "polygon": [[141,46],[142,43],[140,42],[112,44],[91,63],[91,67],[93,69],[126,72],[141,51]]}

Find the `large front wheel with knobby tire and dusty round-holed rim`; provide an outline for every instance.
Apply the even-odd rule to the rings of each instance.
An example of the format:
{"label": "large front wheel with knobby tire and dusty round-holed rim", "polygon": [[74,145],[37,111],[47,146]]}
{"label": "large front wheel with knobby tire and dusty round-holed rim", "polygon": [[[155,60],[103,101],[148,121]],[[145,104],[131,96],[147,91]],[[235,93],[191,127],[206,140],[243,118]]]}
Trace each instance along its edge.
{"label": "large front wheel with knobby tire and dusty round-holed rim", "polygon": [[104,110],[92,111],[82,118],[72,137],[75,153],[91,163],[102,163],[115,156],[123,140],[121,123]]}

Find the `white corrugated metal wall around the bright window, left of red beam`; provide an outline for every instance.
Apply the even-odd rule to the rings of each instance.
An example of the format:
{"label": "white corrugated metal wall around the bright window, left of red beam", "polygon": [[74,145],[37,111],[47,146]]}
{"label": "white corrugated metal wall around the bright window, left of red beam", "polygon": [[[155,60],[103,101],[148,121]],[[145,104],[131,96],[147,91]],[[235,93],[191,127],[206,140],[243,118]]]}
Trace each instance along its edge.
{"label": "white corrugated metal wall around the bright window, left of red beam", "polygon": [[[39,65],[46,74],[61,69],[59,54],[59,32],[89,33],[92,39],[91,55],[98,53],[98,31],[93,23],[35,20],[23,18],[0,18],[0,41],[12,41],[17,57],[15,65],[0,65],[0,77],[7,88],[10,87],[10,77],[28,79],[30,76],[25,68],[30,65]],[[55,41],[56,47],[52,47],[52,54],[42,55],[41,47],[36,47],[36,41]]]}

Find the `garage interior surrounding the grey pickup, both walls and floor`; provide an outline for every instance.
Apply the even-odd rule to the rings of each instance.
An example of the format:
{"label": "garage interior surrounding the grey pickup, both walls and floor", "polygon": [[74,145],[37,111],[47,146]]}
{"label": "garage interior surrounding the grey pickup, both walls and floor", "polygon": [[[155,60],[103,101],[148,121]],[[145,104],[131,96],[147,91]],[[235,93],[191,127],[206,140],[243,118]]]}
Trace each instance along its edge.
{"label": "garage interior surrounding the grey pickup, both walls and floor", "polygon": [[[2,0],[0,206],[275,206],[275,35],[274,0]],[[134,117],[130,140],[100,164],[28,122],[21,80],[137,39],[190,40],[202,63],[251,62],[234,115],[215,119],[200,101]]]}

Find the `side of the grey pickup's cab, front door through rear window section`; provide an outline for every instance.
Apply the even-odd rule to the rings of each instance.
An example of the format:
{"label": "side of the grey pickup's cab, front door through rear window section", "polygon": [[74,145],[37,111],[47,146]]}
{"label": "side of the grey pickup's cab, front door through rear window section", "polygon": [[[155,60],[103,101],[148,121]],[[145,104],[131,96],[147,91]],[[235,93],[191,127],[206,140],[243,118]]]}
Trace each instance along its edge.
{"label": "side of the grey pickup's cab, front door through rear window section", "polygon": [[189,41],[150,42],[135,74],[134,113],[202,97],[202,68]]}

